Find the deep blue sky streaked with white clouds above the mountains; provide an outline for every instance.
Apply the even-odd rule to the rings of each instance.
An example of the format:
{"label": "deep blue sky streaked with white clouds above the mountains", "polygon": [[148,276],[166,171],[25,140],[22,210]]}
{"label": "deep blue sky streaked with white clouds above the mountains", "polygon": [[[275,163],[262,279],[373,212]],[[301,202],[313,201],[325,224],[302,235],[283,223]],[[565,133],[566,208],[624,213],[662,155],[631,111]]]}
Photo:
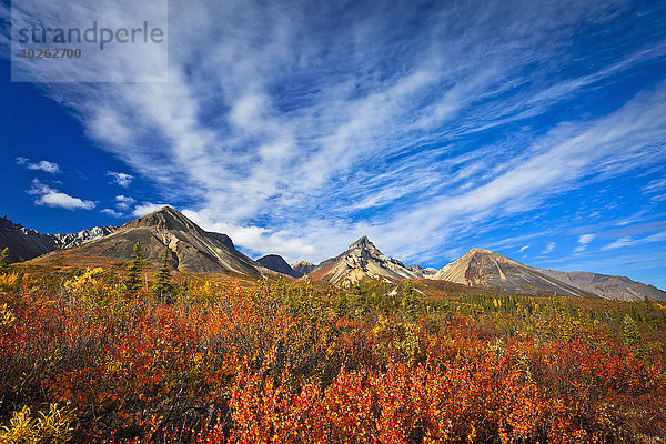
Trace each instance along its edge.
{"label": "deep blue sky streaked with white clouds above the mountains", "polygon": [[169,14],[165,83],[11,83],[0,3],[0,213],[71,232],[171,204],[254,256],[367,234],[408,264],[478,246],[666,289],[663,1]]}

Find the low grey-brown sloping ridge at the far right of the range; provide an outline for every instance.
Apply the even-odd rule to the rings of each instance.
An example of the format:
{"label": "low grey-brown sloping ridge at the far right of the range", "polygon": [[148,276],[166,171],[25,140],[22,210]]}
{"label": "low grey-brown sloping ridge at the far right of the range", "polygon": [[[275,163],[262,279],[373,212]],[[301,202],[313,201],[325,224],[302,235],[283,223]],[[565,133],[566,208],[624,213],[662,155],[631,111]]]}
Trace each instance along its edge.
{"label": "low grey-brown sloping ridge at the far right of the range", "polygon": [[640,301],[645,296],[650,300],[666,300],[666,292],[654,285],[646,285],[632,281],[626,276],[609,276],[607,274],[574,271],[571,273],[555,270],[539,270],[545,275],[555,278],[561,282],[576,286],[588,293],[594,293],[604,299],[622,301]]}

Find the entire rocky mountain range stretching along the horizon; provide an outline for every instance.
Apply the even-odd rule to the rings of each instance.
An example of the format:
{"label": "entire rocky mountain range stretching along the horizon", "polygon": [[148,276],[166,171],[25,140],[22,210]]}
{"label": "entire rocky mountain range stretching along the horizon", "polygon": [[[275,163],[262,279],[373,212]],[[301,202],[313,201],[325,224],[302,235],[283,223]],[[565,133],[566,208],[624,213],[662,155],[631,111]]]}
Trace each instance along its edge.
{"label": "entire rocky mountain range stretching along the horizon", "polygon": [[159,263],[164,246],[171,265],[191,273],[220,273],[252,279],[284,275],[329,282],[343,287],[363,280],[396,283],[401,280],[448,281],[465,285],[496,287],[507,293],[557,293],[575,297],[605,297],[637,301],[666,300],[666,292],[625,276],[589,272],[564,272],[528,266],[483,249],[472,249],[441,270],[406,266],[383,254],[367,236],[343,253],[319,264],[286,263],[276,254],[252,260],[238,251],[225,234],[209,232],[182,213],[164,206],[120,228],[95,226],[72,234],[43,234],[0,220],[0,249],[9,246],[12,262],[91,266],[108,261],[130,261],[139,242],[144,260]]}

